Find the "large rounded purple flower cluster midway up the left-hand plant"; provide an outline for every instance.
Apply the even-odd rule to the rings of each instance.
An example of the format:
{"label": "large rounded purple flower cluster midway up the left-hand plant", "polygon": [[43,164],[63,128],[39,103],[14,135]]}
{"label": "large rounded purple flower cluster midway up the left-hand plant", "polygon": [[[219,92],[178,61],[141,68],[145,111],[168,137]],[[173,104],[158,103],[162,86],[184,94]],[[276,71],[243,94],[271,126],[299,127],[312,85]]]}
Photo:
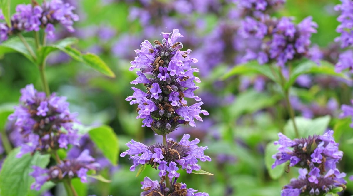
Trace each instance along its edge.
{"label": "large rounded purple flower cluster midway up the left-hand plant", "polygon": [[8,117],[14,121],[14,129],[24,137],[17,157],[35,151],[67,148],[69,144],[78,145],[77,130],[73,129],[76,114],[71,114],[65,97],[55,93],[46,97],[37,92],[32,84],[21,89],[21,105]]}

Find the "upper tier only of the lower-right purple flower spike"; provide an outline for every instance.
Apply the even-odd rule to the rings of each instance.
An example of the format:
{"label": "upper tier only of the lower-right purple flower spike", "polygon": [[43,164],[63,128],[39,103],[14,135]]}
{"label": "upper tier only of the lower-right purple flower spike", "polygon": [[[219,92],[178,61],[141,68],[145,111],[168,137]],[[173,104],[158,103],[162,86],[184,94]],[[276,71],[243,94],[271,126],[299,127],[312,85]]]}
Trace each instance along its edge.
{"label": "upper tier only of the lower-right purple flower spike", "polygon": [[[276,159],[272,168],[290,161],[289,166],[299,166],[310,169],[313,165],[310,180],[316,182],[317,173],[325,169],[335,169],[336,163],[343,157],[343,152],[339,151],[338,143],[333,139],[333,131],[328,131],[323,135],[313,135],[307,138],[291,140],[282,133],[278,134],[280,139],[275,142],[279,145],[279,152],[272,158]],[[320,168],[321,170],[319,170]],[[312,173],[315,172],[315,173]]]}

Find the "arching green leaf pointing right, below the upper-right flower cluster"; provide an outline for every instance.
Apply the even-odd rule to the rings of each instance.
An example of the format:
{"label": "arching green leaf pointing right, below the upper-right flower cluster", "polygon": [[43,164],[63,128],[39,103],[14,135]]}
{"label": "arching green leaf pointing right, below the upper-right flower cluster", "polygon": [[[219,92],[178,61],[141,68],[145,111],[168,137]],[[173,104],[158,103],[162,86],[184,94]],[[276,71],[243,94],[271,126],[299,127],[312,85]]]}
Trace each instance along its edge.
{"label": "arching green leaf pointing right, below the upper-right flower cluster", "polygon": [[286,82],[285,88],[290,88],[298,76],[302,74],[325,74],[325,75],[333,75],[339,76],[341,78],[349,79],[343,73],[336,73],[335,66],[328,61],[320,61],[320,65],[317,65],[313,61],[305,61],[296,66],[291,75],[289,76],[289,80]]}

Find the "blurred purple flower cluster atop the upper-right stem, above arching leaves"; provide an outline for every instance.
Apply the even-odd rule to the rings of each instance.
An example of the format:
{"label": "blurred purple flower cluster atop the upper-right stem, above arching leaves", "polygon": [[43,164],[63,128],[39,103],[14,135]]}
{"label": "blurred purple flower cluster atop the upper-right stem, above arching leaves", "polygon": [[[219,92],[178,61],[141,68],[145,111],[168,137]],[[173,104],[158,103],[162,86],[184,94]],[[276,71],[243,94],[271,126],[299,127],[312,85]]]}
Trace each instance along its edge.
{"label": "blurred purple flower cluster atop the upper-right stem, above arching leaves", "polygon": [[288,17],[276,19],[264,15],[259,20],[246,17],[239,31],[245,38],[263,40],[259,51],[247,51],[247,60],[257,59],[260,64],[275,60],[277,65],[283,67],[287,61],[301,57],[318,62],[320,52],[310,49],[311,34],[317,32],[316,28],[317,24],[312,22],[312,17],[295,25]]}

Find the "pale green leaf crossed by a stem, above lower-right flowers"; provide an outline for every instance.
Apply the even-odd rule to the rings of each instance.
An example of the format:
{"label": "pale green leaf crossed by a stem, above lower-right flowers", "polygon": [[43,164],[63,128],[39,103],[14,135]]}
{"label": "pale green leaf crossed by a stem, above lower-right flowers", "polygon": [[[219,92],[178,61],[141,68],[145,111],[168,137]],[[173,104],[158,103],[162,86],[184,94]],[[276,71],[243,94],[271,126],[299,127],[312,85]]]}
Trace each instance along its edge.
{"label": "pale green leaf crossed by a stem, above lower-right flowers", "polygon": [[[329,115],[315,118],[315,119],[308,119],[304,117],[295,117],[295,124],[297,125],[299,136],[300,137],[307,137],[309,135],[321,135],[327,129],[328,124],[331,120]],[[297,138],[295,135],[293,122],[291,119],[288,120],[284,127],[285,135],[290,139]]]}

